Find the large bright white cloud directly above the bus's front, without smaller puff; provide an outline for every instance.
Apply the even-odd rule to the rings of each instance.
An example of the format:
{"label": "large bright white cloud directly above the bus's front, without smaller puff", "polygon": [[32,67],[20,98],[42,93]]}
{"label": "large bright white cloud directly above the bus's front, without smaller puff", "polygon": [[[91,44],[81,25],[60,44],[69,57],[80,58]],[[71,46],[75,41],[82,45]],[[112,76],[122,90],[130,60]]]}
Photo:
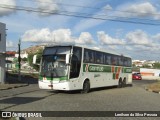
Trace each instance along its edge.
{"label": "large bright white cloud directly above the bus's front, without smaller puff", "polygon": [[42,42],[42,43],[67,43],[73,42],[70,29],[58,29],[50,31],[48,28],[33,29],[26,31],[22,36],[22,40],[26,42]]}

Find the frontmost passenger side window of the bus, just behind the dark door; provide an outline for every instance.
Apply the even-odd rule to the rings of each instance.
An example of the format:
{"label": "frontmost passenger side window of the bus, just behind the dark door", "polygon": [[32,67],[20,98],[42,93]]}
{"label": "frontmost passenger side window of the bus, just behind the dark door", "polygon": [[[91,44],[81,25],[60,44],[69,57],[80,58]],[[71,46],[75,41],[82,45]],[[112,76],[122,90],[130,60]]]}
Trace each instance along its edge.
{"label": "frontmost passenger side window of the bus, just behind the dark door", "polygon": [[94,63],[94,51],[84,49],[84,62],[85,63]]}

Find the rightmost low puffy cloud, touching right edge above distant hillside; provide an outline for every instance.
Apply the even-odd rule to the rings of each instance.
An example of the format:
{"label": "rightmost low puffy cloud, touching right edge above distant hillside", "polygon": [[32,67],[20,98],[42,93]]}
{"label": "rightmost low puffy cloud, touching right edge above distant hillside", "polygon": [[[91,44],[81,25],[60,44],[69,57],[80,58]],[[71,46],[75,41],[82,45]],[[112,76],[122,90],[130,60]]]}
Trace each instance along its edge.
{"label": "rightmost low puffy cloud, touching right edge above distant hillside", "polygon": [[149,35],[142,30],[131,31],[125,36],[125,42],[130,44],[130,48],[127,46],[126,49],[136,50],[137,52],[156,52],[160,50],[158,39],[160,39],[160,33]]}

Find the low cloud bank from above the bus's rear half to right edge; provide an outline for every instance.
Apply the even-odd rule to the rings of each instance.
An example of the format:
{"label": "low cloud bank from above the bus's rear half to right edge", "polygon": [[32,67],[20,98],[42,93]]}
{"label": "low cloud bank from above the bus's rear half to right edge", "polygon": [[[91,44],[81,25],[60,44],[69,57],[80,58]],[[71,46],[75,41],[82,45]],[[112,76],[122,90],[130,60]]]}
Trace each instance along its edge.
{"label": "low cloud bank from above the bus's rear half to right edge", "polygon": [[143,30],[134,30],[126,33],[122,39],[114,38],[104,31],[98,31],[97,37],[101,49],[118,52],[119,54],[131,55],[135,58],[148,59],[148,51],[151,58],[156,59],[160,51],[158,39],[160,33],[149,35]]}

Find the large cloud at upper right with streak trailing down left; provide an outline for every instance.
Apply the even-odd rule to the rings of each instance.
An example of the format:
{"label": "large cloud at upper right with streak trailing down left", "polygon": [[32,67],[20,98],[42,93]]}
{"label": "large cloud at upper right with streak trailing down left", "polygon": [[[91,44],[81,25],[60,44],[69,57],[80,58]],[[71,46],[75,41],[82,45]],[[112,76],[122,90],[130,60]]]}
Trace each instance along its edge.
{"label": "large cloud at upper right with streak trailing down left", "polygon": [[156,6],[152,5],[150,2],[128,3],[118,6],[115,9],[107,4],[91,17],[103,18],[106,20],[83,19],[75,25],[74,31],[86,31],[89,28],[105,23],[107,19],[119,20],[121,17],[128,19],[153,18],[154,20],[160,20],[160,11],[158,11]]}

